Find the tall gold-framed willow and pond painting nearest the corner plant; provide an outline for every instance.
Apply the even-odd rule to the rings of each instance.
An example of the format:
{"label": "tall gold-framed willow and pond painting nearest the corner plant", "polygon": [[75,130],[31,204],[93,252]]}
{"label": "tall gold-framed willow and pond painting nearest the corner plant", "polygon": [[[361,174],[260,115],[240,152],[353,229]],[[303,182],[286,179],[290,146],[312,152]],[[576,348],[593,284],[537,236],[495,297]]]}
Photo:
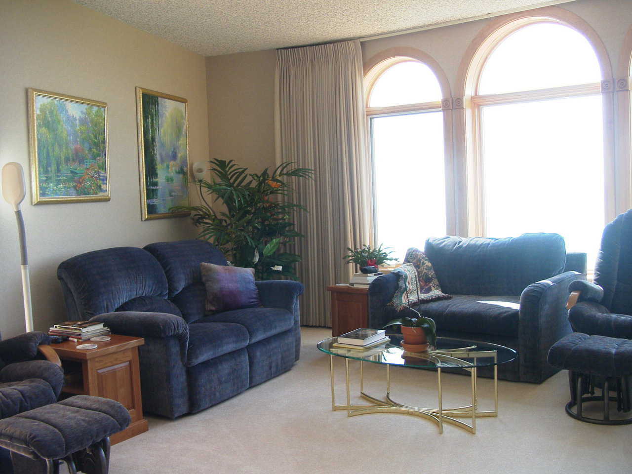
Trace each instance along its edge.
{"label": "tall gold-framed willow and pond painting nearest the corner plant", "polygon": [[189,216],[170,212],[189,205],[187,101],[142,87],[136,100],[142,219]]}

